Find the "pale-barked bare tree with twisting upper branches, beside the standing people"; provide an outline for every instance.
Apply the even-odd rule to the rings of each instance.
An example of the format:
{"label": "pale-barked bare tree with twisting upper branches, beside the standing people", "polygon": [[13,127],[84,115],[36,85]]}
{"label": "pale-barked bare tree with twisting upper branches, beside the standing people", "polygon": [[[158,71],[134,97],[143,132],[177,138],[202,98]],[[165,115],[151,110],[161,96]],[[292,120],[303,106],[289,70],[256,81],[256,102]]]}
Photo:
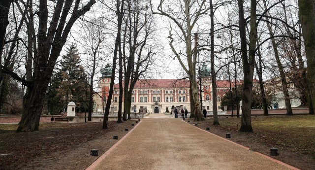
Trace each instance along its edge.
{"label": "pale-barked bare tree with twisting upper branches, beside the standing people", "polygon": [[[176,29],[172,27],[171,23],[168,36],[168,38],[170,39],[169,45],[175,57],[178,59],[182,68],[185,70],[189,77],[191,85],[190,89],[192,94],[190,99],[194,103],[194,106],[191,108],[194,109],[194,120],[204,120],[200,109],[200,102],[198,101],[198,88],[196,84],[195,68],[197,55],[194,55],[193,53],[191,42],[193,38],[192,31],[194,29],[194,26],[196,25],[200,17],[202,17],[207,11],[210,10],[210,7],[206,5],[206,0],[201,0],[200,2],[190,0],[177,2],[163,0],[159,2],[157,10],[157,12],[153,13],[167,17],[172,21],[172,23],[175,23],[176,28],[179,29],[179,32],[175,32],[175,34],[179,35],[181,37],[181,42],[185,44],[185,48],[181,49],[185,51],[185,54],[182,53],[181,50],[177,50],[174,47],[174,35],[172,31],[173,29],[176,31]],[[187,64],[185,62],[187,62]]]}

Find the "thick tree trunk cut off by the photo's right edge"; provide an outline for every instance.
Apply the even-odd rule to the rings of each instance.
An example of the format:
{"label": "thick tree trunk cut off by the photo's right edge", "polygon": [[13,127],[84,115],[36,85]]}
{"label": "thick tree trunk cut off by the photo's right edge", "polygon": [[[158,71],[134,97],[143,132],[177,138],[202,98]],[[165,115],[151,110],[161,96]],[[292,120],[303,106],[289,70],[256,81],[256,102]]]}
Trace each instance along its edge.
{"label": "thick tree trunk cut off by the photo's right edge", "polygon": [[298,0],[298,5],[308,66],[307,84],[309,86],[309,112],[310,114],[315,114],[315,1]]}

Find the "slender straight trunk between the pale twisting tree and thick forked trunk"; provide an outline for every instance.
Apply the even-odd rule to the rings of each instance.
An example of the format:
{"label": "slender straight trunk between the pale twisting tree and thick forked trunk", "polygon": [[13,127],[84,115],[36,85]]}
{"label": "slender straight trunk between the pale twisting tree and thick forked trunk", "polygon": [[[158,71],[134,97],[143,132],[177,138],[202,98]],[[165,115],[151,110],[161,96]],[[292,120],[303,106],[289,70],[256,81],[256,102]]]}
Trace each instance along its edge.
{"label": "slender straight trunk between the pale twisting tree and thick forked trunk", "polygon": [[210,0],[210,63],[211,63],[211,83],[212,83],[212,108],[213,108],[213,123],[212,125],[220,125],[218,118],[217,104],[217,73],[215,70],[215,44],[214,44],[214,11],[212,0]]}

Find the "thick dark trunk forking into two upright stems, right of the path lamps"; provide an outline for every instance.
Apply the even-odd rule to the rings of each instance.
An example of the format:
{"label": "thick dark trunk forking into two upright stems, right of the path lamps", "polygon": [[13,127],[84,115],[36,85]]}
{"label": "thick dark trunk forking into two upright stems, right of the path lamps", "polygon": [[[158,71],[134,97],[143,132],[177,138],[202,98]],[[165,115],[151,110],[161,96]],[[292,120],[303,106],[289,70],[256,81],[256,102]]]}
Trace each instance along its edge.
{"label": "thick dark trunk forking into two upright stems, right of the path lamps", "polygon": [[241,53],[243,61],[243,101],[242,101],[242,121],[240,132],[253,132],[252,130],[252,78],[254,72],[253,62],[255,60],[255,44],[256,44],[256,0],[251,0],[251,31],[249,55],[247,54],[246,42],[246,20],[244,18],[243,0],[238,0],[239,6],[239,24],[241,37]]}

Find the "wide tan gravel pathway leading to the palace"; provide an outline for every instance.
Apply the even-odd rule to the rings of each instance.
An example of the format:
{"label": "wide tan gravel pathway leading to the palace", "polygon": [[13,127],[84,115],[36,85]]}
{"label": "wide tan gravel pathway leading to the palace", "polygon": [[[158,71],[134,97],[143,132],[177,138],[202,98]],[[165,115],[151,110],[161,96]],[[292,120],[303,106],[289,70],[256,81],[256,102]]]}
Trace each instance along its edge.
{"label": "wide tan gravel pathway leading to the palace", "polygon": [[87,170],[289,170],[181,119],[155,118],[141,119]]}

